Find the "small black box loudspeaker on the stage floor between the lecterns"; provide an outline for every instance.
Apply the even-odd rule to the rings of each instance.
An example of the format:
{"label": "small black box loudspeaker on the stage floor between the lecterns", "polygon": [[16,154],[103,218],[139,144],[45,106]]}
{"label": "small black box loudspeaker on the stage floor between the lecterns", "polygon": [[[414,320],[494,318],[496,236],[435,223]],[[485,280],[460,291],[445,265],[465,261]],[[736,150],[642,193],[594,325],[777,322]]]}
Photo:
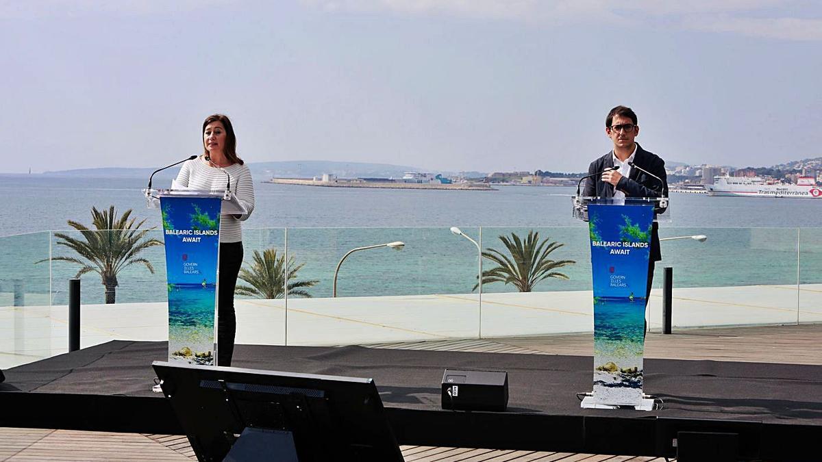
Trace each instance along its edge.
{"label": "small black box loudspeaker on the stage floor between the lecterns", "polygon": [[455,371],[442,374],[442,409],[504,411],[508,372]]}

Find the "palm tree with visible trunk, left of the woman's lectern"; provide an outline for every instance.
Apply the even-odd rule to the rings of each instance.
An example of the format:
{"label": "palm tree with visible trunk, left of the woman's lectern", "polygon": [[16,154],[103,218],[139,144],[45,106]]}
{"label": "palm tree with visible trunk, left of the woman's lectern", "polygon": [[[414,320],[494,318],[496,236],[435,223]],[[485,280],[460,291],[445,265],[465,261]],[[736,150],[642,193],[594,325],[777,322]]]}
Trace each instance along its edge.
{"label": "palm tree with visible trunk, left of the woman's lectern", "polygon": [[154,228],[140,229],[145,219],[135,224],[136,219],[129,219],[132,209],[126,210],[120,217],[116,215],[114,206],[103,211],[91,207],[91,223],[95,229],[68,220],[69,226],[80,231],[82,239],[72,238],[66,233],[54,233],[54,237],[58,238],[58,246],[72,249],[85,260],[73,256],[55,256],[52,260],[70,261],[80,265],[76,278],[91,271],[100,275],[100,280],[105,286],[105,303],[114,303],[115,291],[119,284],[117,275],[126,266],[141,263],[154,274],[151,262],[136,255],[148,247],[163,245],[158,239],[145,238],[145,234]]}

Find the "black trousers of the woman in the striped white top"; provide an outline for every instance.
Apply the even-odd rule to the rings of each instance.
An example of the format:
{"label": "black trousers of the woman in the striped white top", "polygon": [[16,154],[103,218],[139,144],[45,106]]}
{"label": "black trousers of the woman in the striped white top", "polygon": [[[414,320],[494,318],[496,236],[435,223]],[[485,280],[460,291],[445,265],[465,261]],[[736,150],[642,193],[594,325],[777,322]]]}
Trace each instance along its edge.
{"label": "black trousers of the woman in the striped white top", "polygon": [[234,314],[234,288],[242,266],[242,243],[219,243],[217,278],[217,365],[231,366],[237,315]]}

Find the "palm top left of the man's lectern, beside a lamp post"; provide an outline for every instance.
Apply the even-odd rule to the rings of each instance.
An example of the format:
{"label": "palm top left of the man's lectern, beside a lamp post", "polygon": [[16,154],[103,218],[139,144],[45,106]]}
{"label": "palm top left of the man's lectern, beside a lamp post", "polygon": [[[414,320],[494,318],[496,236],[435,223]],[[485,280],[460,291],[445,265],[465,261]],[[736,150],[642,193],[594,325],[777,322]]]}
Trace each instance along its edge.
{"label": "palm top left of the man's lectern, beside a lamp post", "polygon": [[[565,244],[548,242],[548,238],[539,240],[539,233],[529,231],[528,237],[523,241],[516,233],[499,237],[508,249],[510,257],[497,251],[487,248],[483,252],[483,257],[496,263],[496,267],[483,271],[483,284],[501,282],[514,284],[520,292],[531,292],[533,287],[540,281],[547,278],[557,278],[567,280],[567,275],[557,272],[557,268],[573,265],[573,260],[551,260],[548,256],[551,252],[564,246]],[[473,286],[476,290],[479,284]]]}

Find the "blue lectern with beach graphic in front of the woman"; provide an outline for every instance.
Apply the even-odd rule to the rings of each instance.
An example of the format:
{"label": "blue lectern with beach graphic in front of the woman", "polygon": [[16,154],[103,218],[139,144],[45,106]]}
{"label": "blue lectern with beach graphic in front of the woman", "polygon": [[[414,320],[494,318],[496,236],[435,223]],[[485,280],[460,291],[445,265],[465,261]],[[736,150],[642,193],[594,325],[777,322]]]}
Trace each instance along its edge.
{"label": "blue lectern with beach graphic in front of the woman", "polygon": [[231,192],[145,189],[163,216],[169,293],[169,362],[217,365],[220,215],[247,210]]}

